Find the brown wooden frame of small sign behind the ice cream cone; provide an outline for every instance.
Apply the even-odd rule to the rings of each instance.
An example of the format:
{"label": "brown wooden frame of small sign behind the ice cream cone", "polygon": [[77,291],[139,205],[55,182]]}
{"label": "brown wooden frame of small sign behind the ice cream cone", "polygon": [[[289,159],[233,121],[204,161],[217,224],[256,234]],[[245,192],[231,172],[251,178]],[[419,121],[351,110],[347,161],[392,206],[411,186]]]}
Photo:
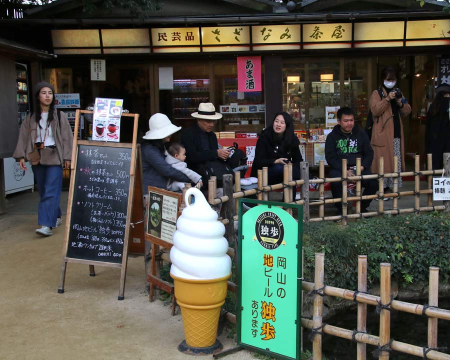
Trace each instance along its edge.
{"label": "brown wooden frame of small sign behind the ice cream cone", "polygon": [[[177,192],[172,192],[172,191],[168,191],[168,190],[164,190],[158,187],[153,187],[153,186],[148,186],[148,191],[147,194],[149,194],[150,192],[153,193],[157,193],[159,195],[162,196],[168,196],[171,198],[176,199],[176,219],[178,219],[179,215],[180,215],[180,210],[179,207],[181,205],[181,201],[182,201],[182,194],[181,193],[177,193]],[[173,289],[173,284],[162,280],[161,278],[159,278],[157,276],[157,271],[156,271],[156,256],[159,252],[159,246],[162,246],[166,249],[170,249],[173,246],[173,243],[171,242],[167,242],[165,240],[162,240],[160,237],[151,235],[148,232],[148,221],[149,221],[149,203],[150,203],[150,198],[148,196],[148,199],[146,201],[146,209],[145,209],[145,241],[150,241],[152,243],[151,246],[151,262],[150,262],[150,273],[147,273],[147,281],[150,283],[150,294],[149,294],[149,299],[150,301],[154,300],[154,287],[158,287],[164,291],[166,291],[169,294],[174,293],[174,289]],[[162,211],[162,208],[161,208]],[[176,220],[175,220],[176,222]],[[174,315],[175,313],[175,303],[174,303],[174,296],[172,296],[172,315]]]}

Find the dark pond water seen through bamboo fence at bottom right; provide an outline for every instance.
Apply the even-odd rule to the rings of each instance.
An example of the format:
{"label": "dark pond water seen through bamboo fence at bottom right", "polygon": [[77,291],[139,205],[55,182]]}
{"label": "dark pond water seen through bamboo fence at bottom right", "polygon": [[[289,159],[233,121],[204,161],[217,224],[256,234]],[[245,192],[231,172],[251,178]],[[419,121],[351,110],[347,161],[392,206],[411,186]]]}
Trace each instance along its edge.
{"label": "dark pond water seen through bamboo fence at bottom right", "polygon": [[[425,303],[423,300],[411,302]],[[439,308],[450,309],[450,299],[439,300]],[[356,328],[357,324],[356,308],[341,311],[332,318],[327,319],[325,323],[353,330]],[[390,314],[390,337],[394,340],[412,345],[420,347],[426,346],[427,324],[428,318],[426,316],[392,310]],[[372,335],[378,335],[379,333],[379,315],[375,312],[375,307],[370,305],[367,305],[367,332]],[[309,334],[309,330],[303,330],[303,349],[312,350],[312,343],[308,339]],[[450,321],[438,320],[437,346],[447,347],[447,349],[442,352],[450,354]],[[374,350],[376,350],[375,346],[367,344],[367,359],[374,358],[371,354]],[[326,356],[328,360],[355,359],[356,343],[340,337],[323,334],[322,354]],[[393,360],[409,360],[420,357],[392,351],[389,358]]]}

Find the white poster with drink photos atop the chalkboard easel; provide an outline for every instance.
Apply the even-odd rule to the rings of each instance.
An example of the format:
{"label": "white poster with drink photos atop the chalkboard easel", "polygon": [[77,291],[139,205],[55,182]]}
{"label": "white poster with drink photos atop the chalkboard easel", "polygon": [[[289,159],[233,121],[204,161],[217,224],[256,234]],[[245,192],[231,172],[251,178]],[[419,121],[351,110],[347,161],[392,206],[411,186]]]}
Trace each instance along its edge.
{"label": "white poster with drink photos atop the chalkboard easel", "polygon": [[95,97],[92,140],[120,141],[120,115],[123,99]]}

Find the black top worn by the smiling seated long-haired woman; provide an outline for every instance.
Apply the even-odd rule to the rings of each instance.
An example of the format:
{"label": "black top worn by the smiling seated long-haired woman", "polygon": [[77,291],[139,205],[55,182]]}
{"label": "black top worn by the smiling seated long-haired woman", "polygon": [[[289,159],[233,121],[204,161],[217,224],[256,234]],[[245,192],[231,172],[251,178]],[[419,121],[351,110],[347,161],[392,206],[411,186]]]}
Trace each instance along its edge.
{"label": "black top worn by the smiling seated long-haired woman", "polygon": [[264,166],[270,166],[273,162],[285,157],[292,162],[292,166],[300,168],[300,162],[303,161],[298,145],[300,141],[295,135],[291,135],[291,144],[289,145],[284,138],[278,139],[273,136],[273,131],[269,128],[264,129],[256,141],[254,149],[254,159],[251,165],[251,176],[257,177],[258,170]]}

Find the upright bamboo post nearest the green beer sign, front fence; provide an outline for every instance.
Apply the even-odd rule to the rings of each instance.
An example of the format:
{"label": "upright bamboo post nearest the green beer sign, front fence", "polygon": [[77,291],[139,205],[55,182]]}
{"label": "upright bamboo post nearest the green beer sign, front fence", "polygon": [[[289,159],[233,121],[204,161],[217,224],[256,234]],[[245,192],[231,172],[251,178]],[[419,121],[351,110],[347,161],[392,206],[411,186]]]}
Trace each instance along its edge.
{"label": "upright bamboo post nearest the green beer sign, front fence", "polygon": [[[323,267],[325,254],[323,252],[315,253],[315,267],[314,267],[314,289],[323,287]],[[323,290],[322,290],[323,291]],[[323,298],[319,294],[314,295],[314,302],[312,308],[312,327],[316,331],[321,332],[322,327],[322,308]],[[312,360],[322,359],[322,335],[320,333],[314,334],[312,340]]]}

